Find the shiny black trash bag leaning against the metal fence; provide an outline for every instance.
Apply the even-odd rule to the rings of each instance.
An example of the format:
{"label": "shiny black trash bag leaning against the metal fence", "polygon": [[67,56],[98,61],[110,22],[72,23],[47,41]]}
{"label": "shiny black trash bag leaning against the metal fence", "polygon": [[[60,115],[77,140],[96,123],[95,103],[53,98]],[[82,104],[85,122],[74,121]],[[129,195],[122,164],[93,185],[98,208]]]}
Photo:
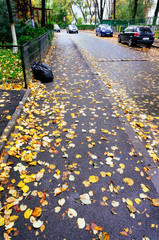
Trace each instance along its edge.
{"label": "shiny black trash bag leaning against the metal fence", "polygon": [[54,79],[51,69],[45,63],[33,62],[32,71],[35,79],[40,80],[42,83],[52,82]]}

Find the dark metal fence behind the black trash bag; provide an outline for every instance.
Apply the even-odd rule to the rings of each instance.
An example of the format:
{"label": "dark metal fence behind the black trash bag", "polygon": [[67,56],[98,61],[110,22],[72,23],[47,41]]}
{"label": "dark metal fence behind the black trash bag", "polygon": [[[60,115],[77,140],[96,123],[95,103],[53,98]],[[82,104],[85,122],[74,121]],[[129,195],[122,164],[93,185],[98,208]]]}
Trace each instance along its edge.
{"label": "dark metal fence behind the black trash bag", "polygon": [[[21,66],[24,77],[25,88],[27,88],[29,79],[32,75],[31,65],[33,61],[41,61],[51,46],[53,31],[50,30],[42,36],[25,43],[24,45],[2,45],[1,48],[20,49]],[[13,59],[14,60],[14,59]]]}

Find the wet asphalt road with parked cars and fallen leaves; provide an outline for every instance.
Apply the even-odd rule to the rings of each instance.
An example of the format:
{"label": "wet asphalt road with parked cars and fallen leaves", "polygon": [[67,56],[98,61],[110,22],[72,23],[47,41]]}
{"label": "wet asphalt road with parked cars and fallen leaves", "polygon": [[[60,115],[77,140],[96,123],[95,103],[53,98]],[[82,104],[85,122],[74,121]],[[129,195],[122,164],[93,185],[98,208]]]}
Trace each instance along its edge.
{"label": "wet asphalt road with parked cars and fallen leaves", "polygon": [[[89,32],[69,37],[82,49],[110,89],[150,155],[157,155],[159,49],[129,48],[119,44],[115,37],[100,38]],[[144,128],[136,122],[144,124]]]}

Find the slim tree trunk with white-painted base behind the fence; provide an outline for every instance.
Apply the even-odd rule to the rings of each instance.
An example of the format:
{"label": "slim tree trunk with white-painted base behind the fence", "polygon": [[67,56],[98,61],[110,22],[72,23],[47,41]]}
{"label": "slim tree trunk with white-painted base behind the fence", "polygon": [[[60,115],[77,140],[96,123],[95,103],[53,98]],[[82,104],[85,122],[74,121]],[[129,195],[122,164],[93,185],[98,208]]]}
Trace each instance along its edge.
{"label": "slim tree trunk with white-painted base behind the fence", "polygon": [[[15,32],[15,26],[14,26],[14,21],[13,21],[13,15],[12,15],[12,9],[11,9],[11,5],[10,5],[10,0],[6,0],[6,2],[7,2],[7,7],[8,7],[9,19],[10,19],[13,45],[17,45],[17,37],[16,37],[16,32]],[[13,53],[17,53],[17,51],[18,51],[18,48],[13,47]]]}

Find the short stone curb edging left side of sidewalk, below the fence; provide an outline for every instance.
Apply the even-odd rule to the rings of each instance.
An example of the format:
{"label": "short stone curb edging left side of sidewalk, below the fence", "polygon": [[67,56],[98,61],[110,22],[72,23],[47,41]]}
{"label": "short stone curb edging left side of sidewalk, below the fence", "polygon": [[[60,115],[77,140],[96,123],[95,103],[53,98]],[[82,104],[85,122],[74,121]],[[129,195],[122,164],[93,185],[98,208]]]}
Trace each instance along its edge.
{"label": "short stone curb edging left side of sidewalk, below the fence", "polygon": [[27,99],[30,96],[30,94],[31,94],[31,89],[27,89],[22,100],[19,102],[18,107],[14,111],[14,113],[12,115],[12,119],[8,122],[6,128],[4,129],[4,131],[0,137],[0,154],[2,154],[3,149],[5,148],[6,142],[10,137],[10,134],[14,131],[16,121],[17,121],[18,117],[20,116],[20,114],[23,110],[23,106],[27,102]]}

